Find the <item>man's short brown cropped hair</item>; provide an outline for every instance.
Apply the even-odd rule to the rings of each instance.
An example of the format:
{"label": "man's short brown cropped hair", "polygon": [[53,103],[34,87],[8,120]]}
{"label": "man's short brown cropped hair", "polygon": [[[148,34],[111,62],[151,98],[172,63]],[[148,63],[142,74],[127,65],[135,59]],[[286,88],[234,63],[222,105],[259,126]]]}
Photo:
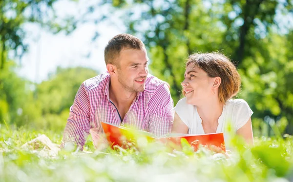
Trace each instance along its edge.
{"label": "man's short brown cropped hair", "polygon": [[145,47],[142,40],[134,37],[130,34],[119,34],[109,40],[105,47],[105,63],[113,64],[120,67],[120,63],[117,61],[120,52],[123,49],[138,49],[141,50]]}

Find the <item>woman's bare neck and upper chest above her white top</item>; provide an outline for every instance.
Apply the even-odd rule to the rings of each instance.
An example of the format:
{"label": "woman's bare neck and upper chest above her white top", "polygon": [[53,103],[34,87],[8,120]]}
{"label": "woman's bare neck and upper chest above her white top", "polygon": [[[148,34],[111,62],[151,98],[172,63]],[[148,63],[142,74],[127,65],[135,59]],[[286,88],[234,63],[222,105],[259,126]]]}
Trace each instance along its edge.
{"label": "woman's bare neck and upper chest above her white top", "polygon": [[211,99],[204,105],[197,106],[197,112],[203,122],[212,125],[218,122],[219,117],[223,112],[224,104],[218,99]]}

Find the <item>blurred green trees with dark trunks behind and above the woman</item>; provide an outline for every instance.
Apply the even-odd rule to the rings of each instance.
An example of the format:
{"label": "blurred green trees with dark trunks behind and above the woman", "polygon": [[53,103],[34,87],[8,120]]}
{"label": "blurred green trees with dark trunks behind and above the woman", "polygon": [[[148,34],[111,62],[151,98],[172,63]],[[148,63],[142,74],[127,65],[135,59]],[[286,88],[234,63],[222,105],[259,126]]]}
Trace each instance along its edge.
{"label": "blurred green trees with dark trunks behind and above the woman", "polygon": [[[239,69],[243,87],[238,97],[254,112],[255,133],[269,127],[272,135],[271,119],[287,120],[288,126],[279,129],[293,133],[292,1],[117,0],[112,5],[127,9],[122,18],[127,31],[146,44],[151,73],[171,85],[175,104],[182,97],[188,54],[221,51]],[[147,8],[138,13],[136,6]]]}

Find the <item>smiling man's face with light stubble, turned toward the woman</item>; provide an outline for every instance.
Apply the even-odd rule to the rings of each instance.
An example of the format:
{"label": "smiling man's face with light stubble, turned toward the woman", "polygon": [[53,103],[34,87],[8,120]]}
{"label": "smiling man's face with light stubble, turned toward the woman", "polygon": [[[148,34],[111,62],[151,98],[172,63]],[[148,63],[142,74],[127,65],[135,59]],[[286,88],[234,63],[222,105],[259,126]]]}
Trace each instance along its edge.
{"label": "smiling man's face with light stubble, turned toward the woman", "polygon": [[148,74],[146,49],[124,49],[120,52],[118,81],[129,92],[143,92]]}

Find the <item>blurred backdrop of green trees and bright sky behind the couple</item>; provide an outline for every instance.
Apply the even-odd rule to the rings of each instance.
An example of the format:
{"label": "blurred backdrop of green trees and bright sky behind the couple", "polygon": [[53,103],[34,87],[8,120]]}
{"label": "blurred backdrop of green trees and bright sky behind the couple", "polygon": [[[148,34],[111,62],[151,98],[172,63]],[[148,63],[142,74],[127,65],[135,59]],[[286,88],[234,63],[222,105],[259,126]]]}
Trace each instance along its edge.
{"label": "blurred backdrop of green trees and bright sky behind the couple", "polygon": [[254,136],[293,134],[293,0],[0,0],[1,127],[63,131],[119,33],[144,41],[174,104],[188,54],[221,51],[242,77]]}

